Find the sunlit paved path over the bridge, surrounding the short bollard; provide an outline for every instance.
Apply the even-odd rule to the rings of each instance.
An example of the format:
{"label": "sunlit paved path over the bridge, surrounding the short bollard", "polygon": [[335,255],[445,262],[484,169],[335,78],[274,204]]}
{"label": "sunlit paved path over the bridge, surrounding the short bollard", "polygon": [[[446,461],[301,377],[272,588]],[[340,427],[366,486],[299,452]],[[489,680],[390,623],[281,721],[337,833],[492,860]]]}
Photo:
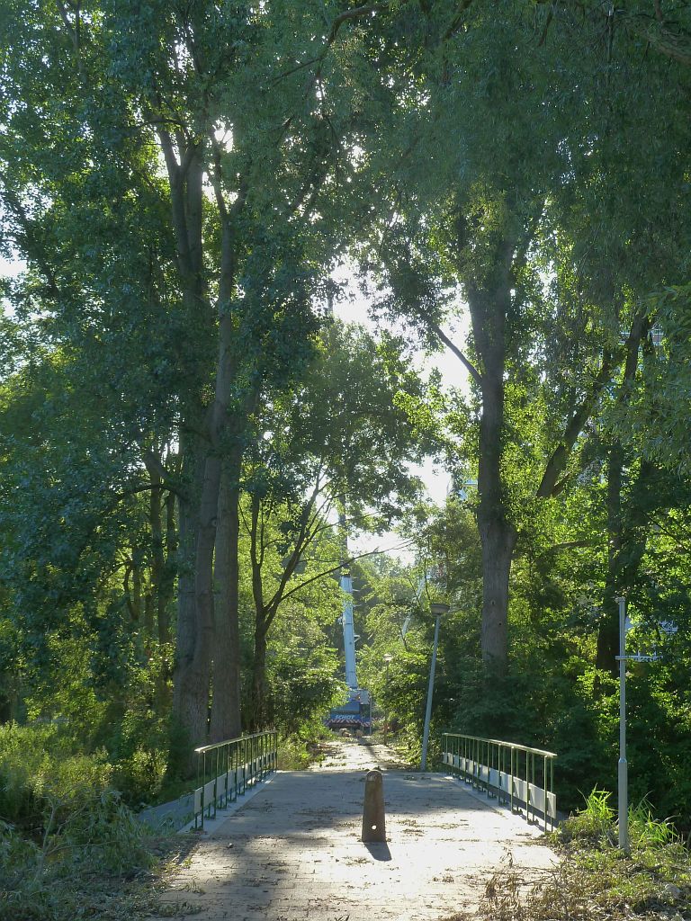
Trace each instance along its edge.
{"label": "sunlit paved path over the bridge, surrounding the short bollard", "polygon": [[457,780],[405,770],[384,771],[387,844],[362,844],[366,769],[391,754],[339,742],[321,770],[275,775],[200,840],[170,880],[167,916],[186,903],[203,921],[473,917],[509,851],[528,874],[556,860],[533,828]]}

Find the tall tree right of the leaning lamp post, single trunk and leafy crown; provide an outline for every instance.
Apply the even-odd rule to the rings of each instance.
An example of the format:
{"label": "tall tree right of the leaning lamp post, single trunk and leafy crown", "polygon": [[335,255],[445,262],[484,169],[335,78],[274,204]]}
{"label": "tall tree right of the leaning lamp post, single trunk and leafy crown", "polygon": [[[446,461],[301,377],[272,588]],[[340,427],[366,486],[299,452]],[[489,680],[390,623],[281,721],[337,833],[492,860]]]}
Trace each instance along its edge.
{"label": "tall tree right of the leaning lamp post, single trunk and leafy crown", "polygon": [[[650,181],[646,200],[660,204],[673,177],[670,214],[677,232],[683,226],[684,157],[677,147],[666,150],[669,172],[659,183],[651,153],[660,148],[662,127],[676,135],[681,87],[668,84],[659,63],[630,57],[636,40],[613,47],[570,10],[559,11],[558,29],[550,29],[552,13],[535,20],[528,5],[463,5],[453,15],[446,5],[420,5],[410,13],[387,24],[382,50],[372,52],[394,75],[378,90],[391,99],[387,136],[399,143],[384,148],[375,134],[369,148],[362,175],[373,173],[389,190],[389,210],[379,213],[376,243],[361,252],[390,289],[384,306],[427,342],[450,348],[470,375],[482,654],[504,670],[510,566],[530,514],[530,503],[511,487],[509,466],[531,470],[533,501],[554,498],[618,375],[620,327],[637,310],[627,291],[644,290],[633,254],[642,239],[655,241],[660,227],[654,212],[636,218],[627,207],[617,214],[615,203],[624,189],[633,202],[641,181]],[[590,51],[578,60],[569,52],[576,36]],[[631,91],[641,66],[646,86],[659,89],[648,110]],[[673,238],[667,225],[664,231]],[[555,285],[545,284],[550,276]],[[472,331],[467,346],[444,325],[463,301]],[[508,415],[519,408],[518,394],[545,411],[538,445],[528,444]]]}

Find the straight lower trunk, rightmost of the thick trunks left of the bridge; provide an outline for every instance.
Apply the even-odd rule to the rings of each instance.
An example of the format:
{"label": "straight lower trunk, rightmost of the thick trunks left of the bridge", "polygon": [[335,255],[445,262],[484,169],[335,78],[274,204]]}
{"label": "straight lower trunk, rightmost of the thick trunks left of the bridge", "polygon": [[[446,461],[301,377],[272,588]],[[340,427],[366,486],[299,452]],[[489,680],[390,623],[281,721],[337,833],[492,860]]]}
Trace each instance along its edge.
{"label": "straight lower trunk, rightmost of the thick trunks left of the bridge", "polygon": [[236,456],[223,465],[218,502],[212,741],[235,739],[242,731],[239,542],[240,459]]}

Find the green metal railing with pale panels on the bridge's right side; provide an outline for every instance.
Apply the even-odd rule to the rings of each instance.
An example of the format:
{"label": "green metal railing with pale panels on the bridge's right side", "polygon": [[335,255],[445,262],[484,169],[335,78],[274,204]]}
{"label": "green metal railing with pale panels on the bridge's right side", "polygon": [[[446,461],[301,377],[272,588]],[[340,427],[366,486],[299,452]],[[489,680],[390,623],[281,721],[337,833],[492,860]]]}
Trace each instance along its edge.
{"label": "green metal railing with pale panels on the bridge's right side", "polygon": [[524,810],[528,822],[542,817],[556,826],[554,752],[527,748],[497,739],[445,732],[442,761],[451,774],[487,796],[506,802],[511,811]]}

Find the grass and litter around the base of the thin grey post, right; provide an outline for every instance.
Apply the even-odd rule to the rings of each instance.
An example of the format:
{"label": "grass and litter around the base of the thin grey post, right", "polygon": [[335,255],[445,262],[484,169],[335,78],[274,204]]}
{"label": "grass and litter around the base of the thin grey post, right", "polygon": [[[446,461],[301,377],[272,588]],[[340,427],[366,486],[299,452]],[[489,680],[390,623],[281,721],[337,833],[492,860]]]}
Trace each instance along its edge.
{"label": "grass and litter around the base of the thin grey post, right", "polygon": [[486,887],[486,921],[685,921],[691,919],[691,855],[669,821],[643,801],[629,814],[631,850],[616,846],[610,794],[593,790],[548,839],[555,869],[526,878],[510,858]]}

